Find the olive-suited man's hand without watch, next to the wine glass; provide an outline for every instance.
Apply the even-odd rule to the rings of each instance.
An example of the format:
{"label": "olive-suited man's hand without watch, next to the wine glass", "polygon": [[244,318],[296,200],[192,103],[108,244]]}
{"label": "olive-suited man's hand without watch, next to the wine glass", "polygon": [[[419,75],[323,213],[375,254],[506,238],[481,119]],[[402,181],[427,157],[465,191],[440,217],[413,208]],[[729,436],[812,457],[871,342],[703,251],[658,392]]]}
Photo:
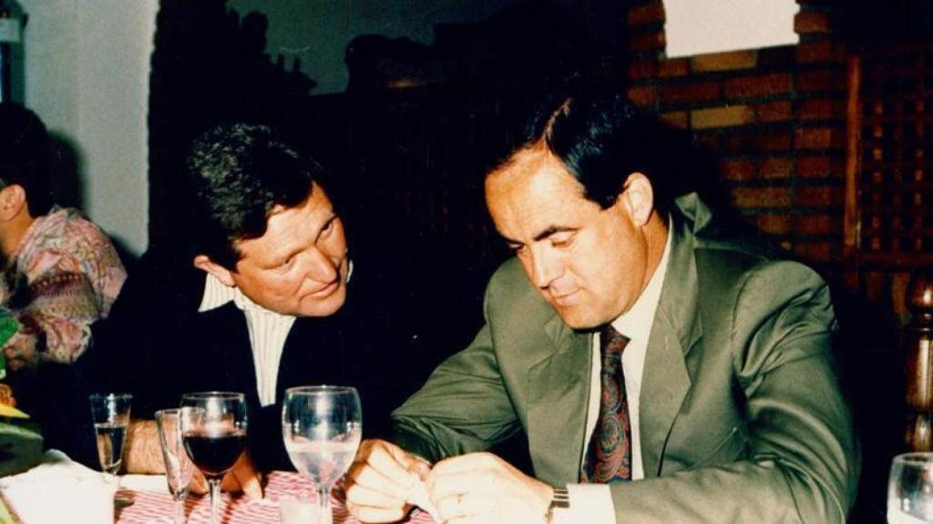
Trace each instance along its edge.
{"label": "olive-suited man's hand without watch, next to the wine glass", "polygon": [[431,466],[384,440],[364,440],[346,478],[347,510],[363,522],[396,522]]}

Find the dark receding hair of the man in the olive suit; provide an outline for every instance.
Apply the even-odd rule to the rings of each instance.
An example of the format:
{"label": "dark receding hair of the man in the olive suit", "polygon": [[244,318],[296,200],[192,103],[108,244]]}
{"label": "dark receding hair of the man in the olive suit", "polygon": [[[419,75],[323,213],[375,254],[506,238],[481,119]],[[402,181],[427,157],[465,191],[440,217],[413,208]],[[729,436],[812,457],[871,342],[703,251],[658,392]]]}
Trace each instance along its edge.
{"label": "dark receding hair of the man in the olive suit", "polygon": [[689,190],[685,177],[695,152],[689,137],[640,113],[618,93],[550,96],[528,119],[515,152],[539,144],[577,178],[584,197],[603,209],[612,206],[633,172],[648,176],[661,216]]}

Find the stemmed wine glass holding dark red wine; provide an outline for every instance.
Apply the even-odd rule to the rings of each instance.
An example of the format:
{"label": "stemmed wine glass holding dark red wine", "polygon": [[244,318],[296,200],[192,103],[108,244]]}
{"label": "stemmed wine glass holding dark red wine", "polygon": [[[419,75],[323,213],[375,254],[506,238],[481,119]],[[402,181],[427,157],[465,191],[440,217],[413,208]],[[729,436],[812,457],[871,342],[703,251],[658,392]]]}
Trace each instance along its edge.
{"label": "stemmed wine glass holding dark red wine", "polygon": [[246,444],[243,393],[185,393],[181,397],[181,434],[185,450],[211,493],[211,524],[220,513],[220,480],[240,458]]}

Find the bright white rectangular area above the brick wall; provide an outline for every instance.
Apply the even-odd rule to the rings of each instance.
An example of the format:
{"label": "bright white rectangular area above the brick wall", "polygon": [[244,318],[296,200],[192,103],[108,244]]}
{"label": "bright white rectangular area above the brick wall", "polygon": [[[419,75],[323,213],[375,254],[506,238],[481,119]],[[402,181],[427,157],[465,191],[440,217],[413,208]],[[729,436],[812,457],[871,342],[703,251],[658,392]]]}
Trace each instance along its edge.
{"label": "bright white rectangular area above the brick wall", "polygon": [[667,56],[796,44],[796,0],[663,0]]}

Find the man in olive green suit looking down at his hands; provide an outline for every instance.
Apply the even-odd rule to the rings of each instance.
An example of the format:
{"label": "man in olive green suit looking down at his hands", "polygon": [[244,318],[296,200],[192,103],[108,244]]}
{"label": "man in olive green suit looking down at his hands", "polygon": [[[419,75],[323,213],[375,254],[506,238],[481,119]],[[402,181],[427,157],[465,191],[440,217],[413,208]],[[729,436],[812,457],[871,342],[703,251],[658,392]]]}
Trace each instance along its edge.
{"label": "man in olive green suit looking down at his hands", "polygon": [[[477,338],[394,413],[395,444],[361,447],[356,517],[417,504],[455,523],[844,522],[858,461],[827,286],[726,234],[696,194],[675,198],[651,129],[620,97],[567,98],[488,175],[516,257]],[[623,480],[584,485],[604,438],[606,324],[629,339],[629,451]],[[520,431],[534,478],[482,452]]]}

